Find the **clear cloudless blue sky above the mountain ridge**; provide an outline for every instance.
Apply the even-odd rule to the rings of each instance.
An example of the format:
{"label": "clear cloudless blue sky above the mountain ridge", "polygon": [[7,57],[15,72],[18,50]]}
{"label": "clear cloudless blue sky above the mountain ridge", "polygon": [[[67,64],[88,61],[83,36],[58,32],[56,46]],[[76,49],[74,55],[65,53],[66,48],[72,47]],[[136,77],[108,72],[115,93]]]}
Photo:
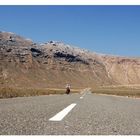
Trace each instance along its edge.
{"label": "clear cloudless blue sky above the mountain ridge", "polygon": [[140,6],[0,6],[0,30],[140,57]]}

